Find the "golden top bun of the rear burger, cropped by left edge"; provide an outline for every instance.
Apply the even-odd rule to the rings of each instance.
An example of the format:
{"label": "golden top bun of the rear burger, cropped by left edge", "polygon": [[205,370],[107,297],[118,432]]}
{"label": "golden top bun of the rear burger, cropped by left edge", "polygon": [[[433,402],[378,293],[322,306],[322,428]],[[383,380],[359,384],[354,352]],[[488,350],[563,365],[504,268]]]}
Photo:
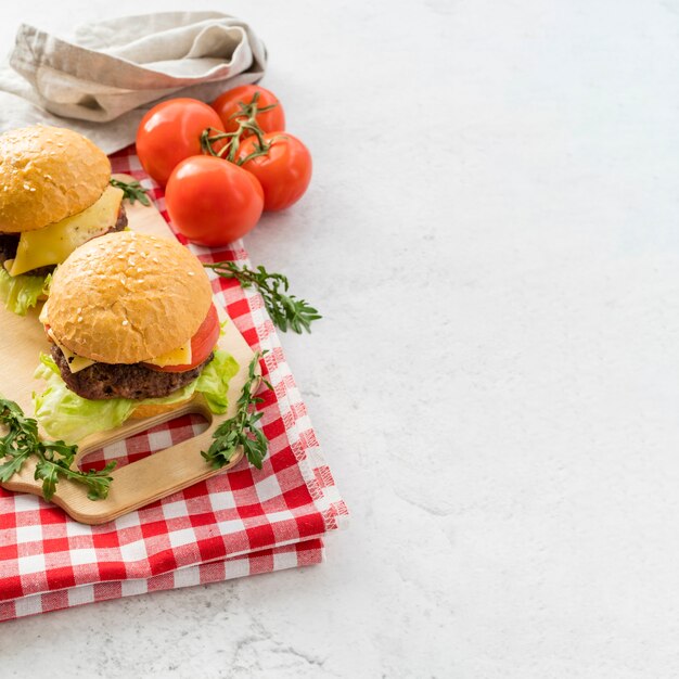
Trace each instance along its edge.
{"label": "golden top bun of the rear burger, cropped by left edge", "polygon": [[41,229],[97,202],[111,179],[106,154],[61,127],[0,136],[0,231]]}

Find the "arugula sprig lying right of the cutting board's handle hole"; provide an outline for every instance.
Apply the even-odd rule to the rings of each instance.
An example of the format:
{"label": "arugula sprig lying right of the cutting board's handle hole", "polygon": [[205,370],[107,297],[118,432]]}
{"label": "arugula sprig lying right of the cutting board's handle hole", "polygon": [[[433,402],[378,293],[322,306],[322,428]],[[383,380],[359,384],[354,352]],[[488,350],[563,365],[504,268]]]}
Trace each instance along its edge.
{"label": "arugula sprig lying right of the cutting board's handle hole", "polygon": [[[257,351],[249,362],[247,369],[247,381],[243,385],[241,397],[238,401],[238,411],[233,418],[222,422],[213,434],[215,439],[207,451],[201,454],[215,469],[221,469],[233,458],[239,446],[243,446],[247,460],[258,470],[261,469],[261,461],[267,454],[269,441],[257,422],[261,419],[261,412],[256,412],[258,403],[264,402],[264,398],[256,396],[257,387],[261,377],[256,374],[259,359],[266,354]],[[268,388],[273,388],[266,380],[261,380]]]}

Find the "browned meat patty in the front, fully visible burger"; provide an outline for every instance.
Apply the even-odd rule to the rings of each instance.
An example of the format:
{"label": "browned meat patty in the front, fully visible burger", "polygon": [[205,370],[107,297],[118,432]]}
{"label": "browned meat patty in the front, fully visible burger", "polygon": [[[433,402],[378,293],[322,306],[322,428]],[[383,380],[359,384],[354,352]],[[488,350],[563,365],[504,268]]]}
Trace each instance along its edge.
{"label": "browned meat patty in the front, fully visible burger", "polygon": [[94,363],[76,373],[68,368],[63,351],[52,345],[52,358],[59,366],[66,386],[82,398],[92,400],[107,398],[163,398],[193,382],[203,368],[213,360],[214,354],[185,372],[151,370],[143,363]]}

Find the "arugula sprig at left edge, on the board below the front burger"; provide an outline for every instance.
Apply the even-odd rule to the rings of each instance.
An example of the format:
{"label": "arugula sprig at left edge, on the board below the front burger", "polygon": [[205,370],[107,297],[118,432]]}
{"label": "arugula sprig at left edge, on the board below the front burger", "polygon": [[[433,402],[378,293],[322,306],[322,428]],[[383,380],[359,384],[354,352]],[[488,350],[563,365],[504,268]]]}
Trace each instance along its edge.
{"label": "arugula sprig at left edge, on the board below the front burger", "polygon": [[37,458],[34,478],[42,482],[42,496],[51,500],[60,477],[84,484],[88,488],[90,500],[103,500],[108,495],[113,478],[108,474],[116,463],[110,462],[101,471],[80,472],[71,469],[77,446],[69,446],[63,440],[44,441],[38,436],[38,423],[24,415],[14,401],[0,398],[0,425],[7,430],[0,436],[0,482],[8,482],[21,471],[24,462],[31,456]]}

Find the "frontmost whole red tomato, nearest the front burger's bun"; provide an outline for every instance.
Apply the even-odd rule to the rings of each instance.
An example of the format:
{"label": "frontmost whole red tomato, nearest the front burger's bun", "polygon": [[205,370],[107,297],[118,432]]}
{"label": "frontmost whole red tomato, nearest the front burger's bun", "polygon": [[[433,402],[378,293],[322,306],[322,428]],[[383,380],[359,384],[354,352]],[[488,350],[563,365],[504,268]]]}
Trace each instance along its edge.
{"label": "frontmost whole red tomato, nearest the front burger's bun", "polygon": [[261,217],[264,192],[254,175],[210,155],[182,161],[165,190],[172,223],[201,245],[227,245]]}

